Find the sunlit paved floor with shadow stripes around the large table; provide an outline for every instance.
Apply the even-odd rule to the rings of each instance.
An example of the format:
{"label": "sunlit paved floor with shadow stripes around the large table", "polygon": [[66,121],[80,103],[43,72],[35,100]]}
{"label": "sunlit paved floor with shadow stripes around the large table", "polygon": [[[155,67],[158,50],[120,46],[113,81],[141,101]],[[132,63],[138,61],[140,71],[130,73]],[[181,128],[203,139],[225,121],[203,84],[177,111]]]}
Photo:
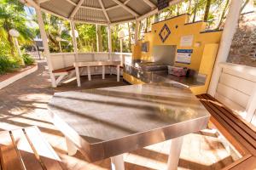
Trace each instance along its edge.
{"label": "sunlit paved floor with shadow stripes around the large table", "polygon": [[[57,91],[79,90],[76,81],[50,88],[49,75],[44,62],[38,64],[38,71],[7,88],[0,90],[0,131],[17,127],[36,125],[44,133],[44,137],[53,146],[68,169],[110,169],[110,160],[89,163],[78,152],[75,156],[67,156],[65,139],[61,132],[50,122],[47,114],[47,103]],[[82,78],[82,88],[102,88],[126,85],[116,82],[116,77],[93,77],[92,82]],[[125,154],[126,169],[165,169],[170,142],[148,146]],[[178,169],[220,169],[232,162],[230,154],[224,150],[214,133],[199,132],[186,135]]]}

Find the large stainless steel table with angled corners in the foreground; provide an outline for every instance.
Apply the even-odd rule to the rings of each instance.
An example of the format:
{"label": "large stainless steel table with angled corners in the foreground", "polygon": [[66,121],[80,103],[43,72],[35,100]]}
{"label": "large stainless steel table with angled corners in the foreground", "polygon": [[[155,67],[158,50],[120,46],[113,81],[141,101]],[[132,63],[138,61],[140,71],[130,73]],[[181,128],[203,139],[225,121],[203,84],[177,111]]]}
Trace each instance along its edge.
{"label": "large stainless steel table with angled corners in the foreground", "polygon": [[140,84],[56,93],[49,102],[55,126],[87,160],[111,157],[124,169],[122,154],[172,139],[168,169],[176,169],[183,135],[207,127],[209,113],[189,88]]}

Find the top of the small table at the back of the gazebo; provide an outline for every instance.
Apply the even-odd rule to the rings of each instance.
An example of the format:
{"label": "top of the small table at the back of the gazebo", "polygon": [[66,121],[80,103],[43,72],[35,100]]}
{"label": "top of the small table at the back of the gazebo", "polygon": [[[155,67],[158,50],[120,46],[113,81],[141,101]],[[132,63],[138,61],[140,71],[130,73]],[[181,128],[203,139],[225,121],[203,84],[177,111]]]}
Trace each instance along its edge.
{"label": "top of the small table at the back of the gazebo", "polygon": [[76,61],[73,66],[121,65],[121,61]]}

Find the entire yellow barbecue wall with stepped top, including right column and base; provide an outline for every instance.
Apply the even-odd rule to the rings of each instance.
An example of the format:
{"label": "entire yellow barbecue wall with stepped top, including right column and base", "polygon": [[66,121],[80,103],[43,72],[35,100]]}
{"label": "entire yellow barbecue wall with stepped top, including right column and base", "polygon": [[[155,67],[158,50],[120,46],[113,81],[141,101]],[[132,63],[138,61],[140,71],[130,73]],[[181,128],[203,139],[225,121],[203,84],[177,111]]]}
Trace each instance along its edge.
{"label": "entire yellow barbecue wall with stepped top, including right column and base", "polygon": [[[177,49],[193,49],[191,55],[191,63],[189,65],[175,63],[177,66],[184,66],[201,74],[207,75],[207,81],[204,86],[190,88],[194,94],[205,94],[212,76],[212,69],[218,52],[218,43],[221,38],[222,31],[205,31],[205,22],[195,22],[187,24],[189,20],[188,14],[183,14],[169,20],[160,21],[152,25],[152,31],[144,35],[143,40],[139,41],[133,47],[133,59],[143,59],[151,61],[154,45],[176,45]],[[161,42],[159,33],[164,25],[167,25],[171,31],[170,36],[165,42]],[[180,40],[183,36],[193,35],[193,43],[191,47],[181,47]],[[141,44],[149,42],[148,52],[141,52]],[[196,46],[195,44],[200,44]],[[176,51],[177,53],[177,51]],[[176,56],[175,56],[176,57]],[[125,75],[130,83],[143,83],[135,77]]]}

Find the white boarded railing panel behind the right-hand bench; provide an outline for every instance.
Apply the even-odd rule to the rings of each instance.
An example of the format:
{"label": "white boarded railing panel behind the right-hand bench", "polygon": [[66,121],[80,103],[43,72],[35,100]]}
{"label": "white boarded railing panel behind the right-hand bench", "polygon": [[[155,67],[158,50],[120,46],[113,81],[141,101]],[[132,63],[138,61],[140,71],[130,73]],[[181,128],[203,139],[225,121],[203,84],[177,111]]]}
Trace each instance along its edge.
{"label": "white boarded railing panel behind the right-hand bench", "polygon": [[215,98],[256,126],[256,68],[246,65],[220,63]]}

